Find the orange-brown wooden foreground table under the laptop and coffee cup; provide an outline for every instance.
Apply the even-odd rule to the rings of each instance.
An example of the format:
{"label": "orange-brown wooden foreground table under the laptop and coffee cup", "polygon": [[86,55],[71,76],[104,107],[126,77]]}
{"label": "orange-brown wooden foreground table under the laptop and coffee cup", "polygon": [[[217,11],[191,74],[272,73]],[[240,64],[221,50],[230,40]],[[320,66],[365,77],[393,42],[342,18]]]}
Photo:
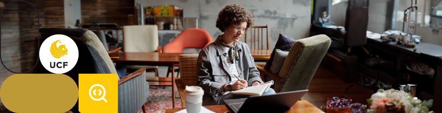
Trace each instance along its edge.
{"label": "orange-brown wooden foreground table under the laptop and coffee cup", "polygon": [[[204,106],[204,107],[216,113],[233,112],[229,109],[227,105],[214,105],[214,106]],[[165,113],[175,113],[183,109],[186,108],[166,109]],[[316,108],[308,101],[300,100],[296,102],[296,104],[293,105],[292,108],[282,113],[324,113],[324,112],[322,112],[319,108]]]}

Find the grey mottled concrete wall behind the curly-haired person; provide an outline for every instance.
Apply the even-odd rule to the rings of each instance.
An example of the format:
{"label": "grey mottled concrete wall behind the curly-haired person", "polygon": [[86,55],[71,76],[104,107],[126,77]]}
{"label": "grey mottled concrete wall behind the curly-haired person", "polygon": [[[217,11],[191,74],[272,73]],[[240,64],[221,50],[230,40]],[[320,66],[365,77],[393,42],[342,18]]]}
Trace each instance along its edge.
{"label": "grey mottled concrete wall behind the curly-haired person", "polygon": [[[198,27],[207,30],[214,40],[222,34],[215,27],[221,8],[229,3],[243,4],[252,13],[255,26],[269,24],[269,49],[275,47],[279,33],[301,39],[308,36],[310,29],[310,0],[135,0],[135,3],[142,3],[145,7],[181,6],[184,18],[199,18]],[[240,41],[244,42],[244,36]]]}

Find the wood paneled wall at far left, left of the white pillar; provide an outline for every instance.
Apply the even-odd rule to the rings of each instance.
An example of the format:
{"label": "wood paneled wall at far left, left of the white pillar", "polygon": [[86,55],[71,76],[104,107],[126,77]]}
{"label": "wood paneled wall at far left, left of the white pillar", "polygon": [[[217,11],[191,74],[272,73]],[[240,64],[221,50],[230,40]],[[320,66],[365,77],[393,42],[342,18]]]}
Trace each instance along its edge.
{"label": "wood paneled wall at far left, left of the white pillar", "polygon": [[[7,4],[13,0],[2,0]],[[37,73],[44,69],[37,61],[38,22],[40,28],[64,28],[63,0],[27,0],[29,3],[18,1],[5,7],[1,16],[1,58],[11,71],[25,72],[36,62],[39,64],[28,73]],[[3,7],[0,7],[3,8]],[[40,20],[38,20],[38,15]],[[14,73],[0,65],[0,85]]]}

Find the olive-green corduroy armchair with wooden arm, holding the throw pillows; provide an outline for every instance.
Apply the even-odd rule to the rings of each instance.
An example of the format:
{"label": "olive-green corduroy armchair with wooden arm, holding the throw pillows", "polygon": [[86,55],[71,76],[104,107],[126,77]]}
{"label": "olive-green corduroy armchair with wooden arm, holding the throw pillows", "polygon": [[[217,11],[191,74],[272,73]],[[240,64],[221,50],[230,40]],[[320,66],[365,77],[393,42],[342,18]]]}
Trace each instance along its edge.
{"label": "olive-green corduroy armchair with wooden arm, holding the throw pillows", "polygon": [[331,39],[324,34],[300,39],[293,44],[278,75],[256,65],[260,75],[276,79],[275,91],[287,92],[306,89],[319,63],[326,55]]}

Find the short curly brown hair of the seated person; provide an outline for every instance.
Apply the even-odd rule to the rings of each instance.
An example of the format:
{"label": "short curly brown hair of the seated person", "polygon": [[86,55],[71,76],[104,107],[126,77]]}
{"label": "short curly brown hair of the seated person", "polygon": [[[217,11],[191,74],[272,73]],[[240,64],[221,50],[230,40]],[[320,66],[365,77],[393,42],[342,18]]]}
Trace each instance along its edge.
{"label": "short curly brown hair of the seated person", "polygon": [[246,31],[253,26],[255,20],[253,20],[252,14],[244,9],[243,5],[232,3],[227,4],[218,13],[217,25],[216,27],[225,31],[231,24],[240,24],[242,22],[247,23]]}

